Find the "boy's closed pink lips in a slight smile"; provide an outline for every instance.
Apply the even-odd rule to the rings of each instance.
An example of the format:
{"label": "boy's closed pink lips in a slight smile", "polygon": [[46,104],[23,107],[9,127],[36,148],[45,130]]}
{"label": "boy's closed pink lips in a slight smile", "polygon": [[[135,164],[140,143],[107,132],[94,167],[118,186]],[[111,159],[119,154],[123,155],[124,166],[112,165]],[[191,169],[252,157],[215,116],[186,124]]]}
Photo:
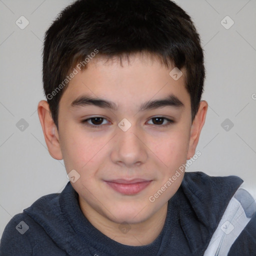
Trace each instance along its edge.
{"label": "boy's closed pink lips in a slight smile", "polygon": [[114,179],[104,180],[113,190],[126,195],[137,194],[145,189],[152,180],[146,179]]}

